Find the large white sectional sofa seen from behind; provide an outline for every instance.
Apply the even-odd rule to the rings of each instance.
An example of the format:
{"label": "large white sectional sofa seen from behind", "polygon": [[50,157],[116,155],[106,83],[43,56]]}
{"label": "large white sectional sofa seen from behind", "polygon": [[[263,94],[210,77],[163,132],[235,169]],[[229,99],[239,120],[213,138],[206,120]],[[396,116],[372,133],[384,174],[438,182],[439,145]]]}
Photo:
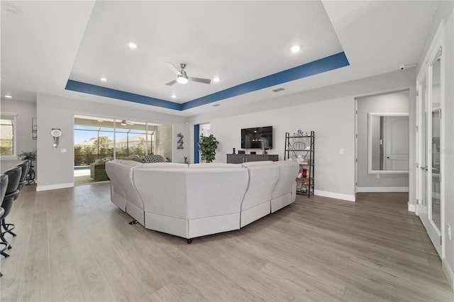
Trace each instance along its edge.
{"label": "large white sectional sofa seen from behind", "polygon": [[106,162],[111,201],[150,230],[192,238],[238,230],[296,198],[299,164]]}

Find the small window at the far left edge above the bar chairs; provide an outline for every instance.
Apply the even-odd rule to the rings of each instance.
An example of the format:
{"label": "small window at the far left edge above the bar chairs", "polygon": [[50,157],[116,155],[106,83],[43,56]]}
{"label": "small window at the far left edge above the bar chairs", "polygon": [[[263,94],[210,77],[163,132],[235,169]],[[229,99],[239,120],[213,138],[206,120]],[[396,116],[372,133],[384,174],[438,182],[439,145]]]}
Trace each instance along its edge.
{"label": "small window at the far left edge above the bar chairs", "polygon": [[0,116],[0,157],[16,159],[16,114]]}

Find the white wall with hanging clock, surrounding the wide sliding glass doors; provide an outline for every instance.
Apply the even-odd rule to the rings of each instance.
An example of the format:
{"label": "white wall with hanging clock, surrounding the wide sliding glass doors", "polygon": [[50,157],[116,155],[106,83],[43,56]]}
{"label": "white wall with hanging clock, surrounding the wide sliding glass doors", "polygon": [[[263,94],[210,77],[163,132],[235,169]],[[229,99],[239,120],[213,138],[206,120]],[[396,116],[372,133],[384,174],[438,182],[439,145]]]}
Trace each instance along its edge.
{"label": "white wall with hanging clock, surrounding the wide sliding glass doors", "polygon": [[[183,162],[189,150],[177,150],[177,133],[189,137],[186,119],[164,113],[125,108],[79,99],[38,94],[38,175],[37,191],[73,186],[74,179],[74,114],[173,124],[172,161]],[[57,148],[50,135],[52,128],[60,128],[62,136]],[[66,150],[66,152],[63,152]]]}

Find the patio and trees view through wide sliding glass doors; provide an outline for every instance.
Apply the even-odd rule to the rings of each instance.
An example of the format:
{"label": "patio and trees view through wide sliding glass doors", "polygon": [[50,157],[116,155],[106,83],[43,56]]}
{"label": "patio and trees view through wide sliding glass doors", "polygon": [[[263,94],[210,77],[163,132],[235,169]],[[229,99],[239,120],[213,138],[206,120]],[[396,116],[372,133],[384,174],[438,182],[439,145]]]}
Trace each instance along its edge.
{"label": "patio and trees view through wide sliding glass doors", "polygon": [[85,169],[91,178],[87,182],[107,180],[101,167],[105,161],[142,162],[146,155],[172,161],[172,125],[74,116],[74,177]]}

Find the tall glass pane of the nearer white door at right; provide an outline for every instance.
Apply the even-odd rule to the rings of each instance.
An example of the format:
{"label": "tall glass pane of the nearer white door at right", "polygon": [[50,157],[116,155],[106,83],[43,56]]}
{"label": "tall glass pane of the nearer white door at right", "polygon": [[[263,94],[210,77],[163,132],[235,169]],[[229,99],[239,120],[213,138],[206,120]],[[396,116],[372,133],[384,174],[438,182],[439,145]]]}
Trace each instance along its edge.
{"label": "tall glass pane of the nearer white door at right", "polygon": [[440,216],[440,79],[441,79],[441,59],[438,57],[432,65],[432,217],[433,223],[436,224],[438,230],[441,229]]}

